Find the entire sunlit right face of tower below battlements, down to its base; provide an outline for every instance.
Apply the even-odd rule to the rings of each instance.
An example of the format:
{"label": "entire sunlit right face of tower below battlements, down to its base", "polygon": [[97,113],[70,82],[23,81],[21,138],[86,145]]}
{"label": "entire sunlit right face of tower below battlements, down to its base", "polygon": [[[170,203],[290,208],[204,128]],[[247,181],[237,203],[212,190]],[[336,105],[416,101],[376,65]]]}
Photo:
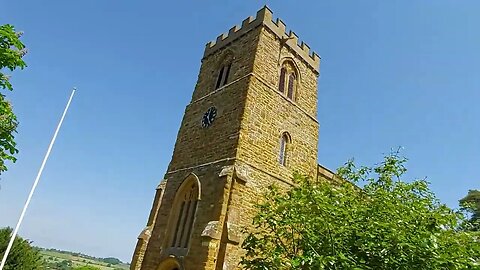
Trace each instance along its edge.
{"label": "entire sunlit right face of tower below battlements, down to its base", "polygon": [[[263,27],[256,50],[253,74],[249,79],[235,168],[242,179],[234,181],[228,206],[227,224],[231,228],[251,228],[255,204],[264,198],[268,186],[290,188],[294,171],[316,177],[317,145],[317,73],[293,50],[282,47],[279,38]],[[297,99],[290,101],[277,91],[283,59],[294,61],[300,73]],[[280,137],[288,132],[292,142],[287,147],[287,164],[278,162]],[[222,269],[239,269],[244,254],[236,230],[227,231],[226,254]],[[241,230],[241,229],[240,229]],[[233,234],[233,236],[231,236]]]}

